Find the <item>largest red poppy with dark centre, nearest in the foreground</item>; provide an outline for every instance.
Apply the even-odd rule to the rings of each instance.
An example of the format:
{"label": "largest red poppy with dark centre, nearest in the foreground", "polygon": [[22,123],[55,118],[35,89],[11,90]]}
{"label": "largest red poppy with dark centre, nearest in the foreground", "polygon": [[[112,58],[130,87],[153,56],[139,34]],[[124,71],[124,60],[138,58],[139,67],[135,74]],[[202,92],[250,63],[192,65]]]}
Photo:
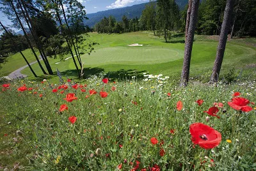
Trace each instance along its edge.
{"label": "largest red poppy with dark centre, nearest in the foreground", "polygon": [[221,142],[221,133],[203,123],[193,123],[189,126],[193,144],[204,149],[217,147]]}

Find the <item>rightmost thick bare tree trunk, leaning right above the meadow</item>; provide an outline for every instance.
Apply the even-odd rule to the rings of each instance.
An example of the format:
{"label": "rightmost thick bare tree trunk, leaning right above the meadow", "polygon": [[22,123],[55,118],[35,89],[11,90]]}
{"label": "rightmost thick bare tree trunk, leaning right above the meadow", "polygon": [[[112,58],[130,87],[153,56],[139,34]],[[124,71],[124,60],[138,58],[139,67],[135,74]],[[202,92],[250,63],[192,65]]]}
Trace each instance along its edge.
{"label": "rightmost thick bare tree trunk, leaning right above the meadow", "polygon": [[209,82],[211,84],[218,82],[218,79],[219,79],[221,64],[223,61],[223,56],[224,56],[226,43],[227,43],[229,25],[230,25],[230,21],[232,19],[232,11],[233,11],[233,6],[234,6],[235,1],[236,0],[227,0],[225,13],[224,13],[224,17],[223,17],[223,23],[221,25],[220,40],[219,40],[219,44],[218,44],[218,48],[217,48],[214,66],[212,68],[212,75],[211,75],[210,82]]}

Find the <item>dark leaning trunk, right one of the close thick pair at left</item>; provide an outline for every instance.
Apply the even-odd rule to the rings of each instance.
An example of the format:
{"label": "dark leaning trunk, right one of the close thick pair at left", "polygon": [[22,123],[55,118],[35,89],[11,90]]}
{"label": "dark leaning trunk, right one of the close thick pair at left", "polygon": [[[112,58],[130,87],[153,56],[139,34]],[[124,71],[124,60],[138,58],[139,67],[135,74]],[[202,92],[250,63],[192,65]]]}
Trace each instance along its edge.
{"label": "dark leaning trunk, right one of the close thick pair at left", "polygon": [[[24,10],[22,9],[22,6],[21,6],[21,4],[20,4],[20,1],[21,1],[22,5],[23,5]],[[31,32],[31,34],[32,34],[32,36],[33,36],[33,39],[35,40],[36,46],[37,46],[37,48],[38,48],[38,50],[39,50],[39,52],[40,52],[40,55],[41,55],[41,57],[42,57],[42,59],[43,59],[43,61],[44,61],[44,63],[45,63],[45,66],[46,66],[46,68],[47,68],[47,71],[49,72],[50,75],[53,75],[51,65],[49,64],[49,61],[48,61],[48,59],[47,59],[47,56],[45,55],[45,52],[44,52],[44,48],[43,48],[43,46],[42,46],[42,43],[41,43],[40,39],[38,38],[38,35],[36,34],[35,26],[34,26],[32,20],[31,20],[31,18],[29,17],[29,13],[28,13],[28,10],[27,10],[27,8],[26,8],[26,4],[24,3],[24,0],[20,0],[20,1],[18,0],[18,3],[20,4],[20,8],[21,8],[21,10],[22,10],[22,13],[23,13],[23,15],[24,15],[24,18],[26,19],[26,17],[28,17],[28,19],[26,19],[26,22],[27,22],[28,26],[29,26],[29,24],[30,24],[30,26],[29,26],[30,32]],[[25,11],[25,12],[24,12],[24,11]],[[26,13],[26,14],[25,14],[25,13]]]}

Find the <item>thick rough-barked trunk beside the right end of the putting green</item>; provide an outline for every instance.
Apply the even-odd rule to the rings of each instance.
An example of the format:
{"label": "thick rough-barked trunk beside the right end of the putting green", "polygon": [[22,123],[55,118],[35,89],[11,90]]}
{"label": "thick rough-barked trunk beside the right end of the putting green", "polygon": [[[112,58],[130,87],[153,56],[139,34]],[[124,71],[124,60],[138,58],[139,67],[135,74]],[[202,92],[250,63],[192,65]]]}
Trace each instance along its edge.
{"label": "thick rough-barked trunk beside the right end of the putting green", "polygon": [[194,34],[195,34],[199,3],[200,3],[199,0],[192,1],[188,36],[185,43],[184,61],[183,61],[181,78],[180,78],[180,87],[186,87],[188,85],[191,53],[192,53],[192,47],[193,47],[193,40],[194,40]]}

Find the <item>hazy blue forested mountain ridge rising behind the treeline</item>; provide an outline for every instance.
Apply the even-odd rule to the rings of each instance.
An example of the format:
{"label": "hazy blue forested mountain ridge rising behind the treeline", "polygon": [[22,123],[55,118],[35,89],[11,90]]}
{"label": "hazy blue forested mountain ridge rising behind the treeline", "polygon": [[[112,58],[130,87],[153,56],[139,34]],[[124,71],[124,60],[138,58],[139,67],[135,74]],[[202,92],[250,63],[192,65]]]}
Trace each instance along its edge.
{"label": "hazy blue forested mountain ridge rising behind the treeline", "polygon": [[[179,5],[180,9],[184,9],[184,6],[188,4],[188,0],[175,0],[176,3]],[[84,20],[84,24],[88,25],[89,27],[93,27],[97,22],[100,22],[104,17],[109,17],[110,15],[113,15],[117,21],[121,21],[123,15],[125,15],[128,19],[133,19],[135,17],[138,17],[140,19],[140,16],[142,14],[142,11],[145,9],[145,5],[148,3],[142,3],[142,4],[135,4],[133,6],[127,6],[124,8],[116,8],[106,11],[99,11],[97,13],[88,13],[86,14],[86,17],[88,17],[88,20]]]}

